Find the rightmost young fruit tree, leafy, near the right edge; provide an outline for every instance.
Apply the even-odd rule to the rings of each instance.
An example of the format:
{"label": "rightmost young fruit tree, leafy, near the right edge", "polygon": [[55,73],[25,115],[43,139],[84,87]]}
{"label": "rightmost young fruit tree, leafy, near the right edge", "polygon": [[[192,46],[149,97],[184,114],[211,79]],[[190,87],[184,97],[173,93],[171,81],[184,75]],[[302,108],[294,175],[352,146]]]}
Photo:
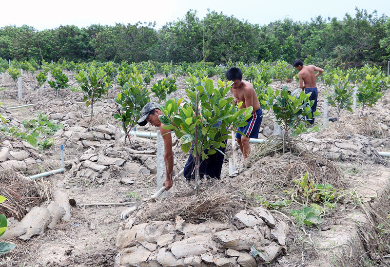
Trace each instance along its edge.
{"label": "rightmost young fruit tree, leafy, near the right edge", "polygon": [[359,115],[363,115],[364,107],[369,106],[372,108],[373,105],[382,97],[382,92],[380,92],[382,86],[382,77],[381,76],[366,76],[366,79],[363,80],[358,85],[357,89],[357,101],[362,104],[362,111]]}

